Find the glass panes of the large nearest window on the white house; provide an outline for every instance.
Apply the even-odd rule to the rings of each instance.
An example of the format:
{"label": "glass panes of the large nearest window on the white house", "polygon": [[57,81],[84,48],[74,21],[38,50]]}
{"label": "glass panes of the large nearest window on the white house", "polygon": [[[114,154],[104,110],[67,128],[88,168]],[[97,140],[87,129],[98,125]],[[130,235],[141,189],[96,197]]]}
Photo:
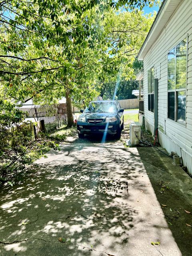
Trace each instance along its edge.
{"label": "glass panes of the large nearest window on the white house", "polygon": [[168,53],[168,118],[186,121],[187,38]]}

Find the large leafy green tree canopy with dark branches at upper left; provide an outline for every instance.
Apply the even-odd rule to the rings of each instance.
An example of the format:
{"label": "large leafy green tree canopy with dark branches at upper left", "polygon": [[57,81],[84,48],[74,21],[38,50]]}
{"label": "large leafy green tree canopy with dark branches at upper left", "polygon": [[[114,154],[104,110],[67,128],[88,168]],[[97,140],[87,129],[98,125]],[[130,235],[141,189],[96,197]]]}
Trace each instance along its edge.
{"label": "large leafy green tree canopy with dark branches at upper left", "polygon": [[[116,30],[118,18],[122,19],[115,10],[123,5],[142,8],[153,2],[2,1],[1,93],[15,100],[34,97],[38,102],[51,103],[69,90],[78,102],[88,89],[92,92],[88,97],[84,94],[86,102],[96,94],[96,80],[115,77],[118,66],[134,54],[132,38],[129,47],[125,46],[123,34],[127,32],[112,30]],[[131,75],[132,70],[127,65],[123,72]]]}

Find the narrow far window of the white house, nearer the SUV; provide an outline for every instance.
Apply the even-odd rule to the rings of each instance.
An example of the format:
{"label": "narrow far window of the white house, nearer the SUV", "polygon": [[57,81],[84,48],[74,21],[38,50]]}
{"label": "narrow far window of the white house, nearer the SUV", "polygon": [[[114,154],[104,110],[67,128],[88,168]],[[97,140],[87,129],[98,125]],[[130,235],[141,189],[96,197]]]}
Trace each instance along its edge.
{"label": "narrow far window of the white house, nearer the SUV", "polygon": [[148,110],[154,112],[154,68],[148,70]]}

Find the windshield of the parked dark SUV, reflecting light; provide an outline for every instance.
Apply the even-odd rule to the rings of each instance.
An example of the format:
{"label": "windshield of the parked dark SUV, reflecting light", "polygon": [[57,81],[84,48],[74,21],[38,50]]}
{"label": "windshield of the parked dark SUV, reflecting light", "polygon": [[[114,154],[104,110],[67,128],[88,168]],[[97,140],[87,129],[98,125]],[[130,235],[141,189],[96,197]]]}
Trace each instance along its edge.
{"label": "windshield of the parked dark SUV, reflecting light", "polygon": [[116,112],[117,107],[114,102],[91,102],[84,110],[85,113],[95,113],[95,112]]}

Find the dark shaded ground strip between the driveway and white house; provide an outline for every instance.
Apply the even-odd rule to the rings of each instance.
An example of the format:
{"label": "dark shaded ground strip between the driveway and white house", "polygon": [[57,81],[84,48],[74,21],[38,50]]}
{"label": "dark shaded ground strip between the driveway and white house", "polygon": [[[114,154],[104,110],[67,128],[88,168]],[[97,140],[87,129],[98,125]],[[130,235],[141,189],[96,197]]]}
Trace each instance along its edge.
{"label": "dark shaded ground strip between the driveway and white house", "polygon": [[182,255],[192,255],[192,179],[162,148],[147,150],[138,148],[168,226]]}

